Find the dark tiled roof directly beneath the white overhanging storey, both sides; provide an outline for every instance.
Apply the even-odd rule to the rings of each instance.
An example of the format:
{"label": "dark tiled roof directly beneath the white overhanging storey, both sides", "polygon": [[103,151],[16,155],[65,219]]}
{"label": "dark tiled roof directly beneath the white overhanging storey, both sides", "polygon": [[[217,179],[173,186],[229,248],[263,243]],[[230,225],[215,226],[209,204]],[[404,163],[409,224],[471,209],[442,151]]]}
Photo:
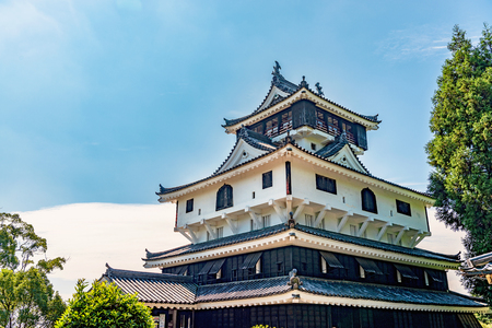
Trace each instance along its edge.
{"label": "dark tiled roof directly beneath the white overhanging storey, both sides", "polygon": [[[223,238],[213,239],[213,241],[209,241],[209,242],[204,242],[204,243],[189,244],[189,245],[185,245],[185,246],[174,248],[171,250],[166,250],[166,251],[161,251],[161,253],[148,251],[147,258],[144,258],[143,260],[163,259],[163,258],[168,258],[168,257],[173,257],[173,256],[180,256],[184,254],[190,254],[190,253],[202,251],[202,250],[212,249],[212,248],[216,248],[216,247],[223,247],[226,245],[238,244],[238,243],[243,243],[243,242],[247,242],[247,241],[259,239],[259,238],[262,238],[266,236],[279,234],[286,230],[288,230],[288,226],[285,226],[284,224],[277,224],[277,225],[269,226],[266,229],[250,231],[250,232],[237,234],[237,235],[231,235],[231,236],[226,236]],[[450,261],[450,262],[458,261],[458,259],[454,256],[447,256],[447,255],[443,255],[443,254],[438,254],[438,253],[433,253],[433,251],[421,249],[421,248],[407,248],[403,246],[386,244],[383,242],[366,239],[366,238],[362,238],[362,237],[355,237],[355,236],[340,234],[340,233],[326,231],[326,230],[321,230],[321,229],[309,227],[309,226],[301,225],[301,224],[296,224],[294,230],[298,230],[298,231],[302,231],[302,232],[305,232],[305,233],[308,233],[312,235],[325,237],[325,238],[332,239],[332,241],[344,242],[344,243],[372,247],[372,248],[382,249],[382,250],[395,251],[395,253],[399,253],[399,254],[419,256],[419,257],[431,258],[431,259],[436,259],[436,260],[445,260],[445,261]]]}

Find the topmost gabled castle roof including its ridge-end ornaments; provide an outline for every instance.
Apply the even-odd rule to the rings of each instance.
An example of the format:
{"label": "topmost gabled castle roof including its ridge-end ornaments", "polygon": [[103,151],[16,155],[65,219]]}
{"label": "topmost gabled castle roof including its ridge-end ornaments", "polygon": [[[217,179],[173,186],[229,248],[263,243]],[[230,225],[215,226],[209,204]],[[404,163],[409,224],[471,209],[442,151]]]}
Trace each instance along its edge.
{"label": "topmost gabled castle roof including its ridge-end ornaments", "polygon": [[[335,105],[343,110],[347,110],[350,114],[353,114],[355,116],[359,116],[365,120],[372,121],[372,122],[380,122],[380,120],[377,119],[377,115],[374,116],[370,116],[370,115],[361,115],[358,114],[355,112],[350,110],[347,107],[343,107],[328,98],[326,98],[324,96],[324,94],[321,92],[315,92],[313,90],[309,89],[309,85],[307,84],[307,82],[304,80],[303,77],[303,81],[301,81],[301,83],[297,85],[295,83],[292,83],[290,81],[288,81],[281,73],[280,73],[280,66],[277,66],[272,72],[272,81],[271,81],[271,86],[270,90],[268,91],[267,95],[265,96],[263,101],[261,102],[261,105],[258,106],[258,108],[256,108],[251,114],[239,117],[239,118],[235,118],[235,119],[226,119],[224,118],[225,124],[222,125],[222,127],[226,128],[226,127],[232,127],[235,126],[246,119],[248,119],[249,117],[253,117],[261,112],[267,110],[268,108],[277,105],[278,103],[290,98],[292,95],[294,95],[298,90],[305,87],[306,90],[308,90],[309,92],[312,92],[313,94],[319,96],[320,98],[323,98],[324,101],[330,103],[331,105]],[[288,95],[286,96],[279,96],[278,98],[273,99],[270,102],[270,104],[268,104],[267,106],[265,106],[265,104],[267,103],[267,101],[269,99],[269,96],[271,95],[271,93],[274,91],[274,89],[279,89],[283,92],[285,92]]]}

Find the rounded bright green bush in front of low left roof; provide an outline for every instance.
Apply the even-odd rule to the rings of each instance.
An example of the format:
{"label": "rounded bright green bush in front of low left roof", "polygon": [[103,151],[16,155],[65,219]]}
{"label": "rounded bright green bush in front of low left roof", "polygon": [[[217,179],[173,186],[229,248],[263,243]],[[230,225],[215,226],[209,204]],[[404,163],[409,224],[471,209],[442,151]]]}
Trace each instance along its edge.
{"label": "rounded bright green bush in front of low left roof", "polygon": [[140,303],[136,294],[124,294],[115,284],[94,281],[89,292],[87,283],[79,280],[75,294],[56,328],[153,328],[151,311]]}

